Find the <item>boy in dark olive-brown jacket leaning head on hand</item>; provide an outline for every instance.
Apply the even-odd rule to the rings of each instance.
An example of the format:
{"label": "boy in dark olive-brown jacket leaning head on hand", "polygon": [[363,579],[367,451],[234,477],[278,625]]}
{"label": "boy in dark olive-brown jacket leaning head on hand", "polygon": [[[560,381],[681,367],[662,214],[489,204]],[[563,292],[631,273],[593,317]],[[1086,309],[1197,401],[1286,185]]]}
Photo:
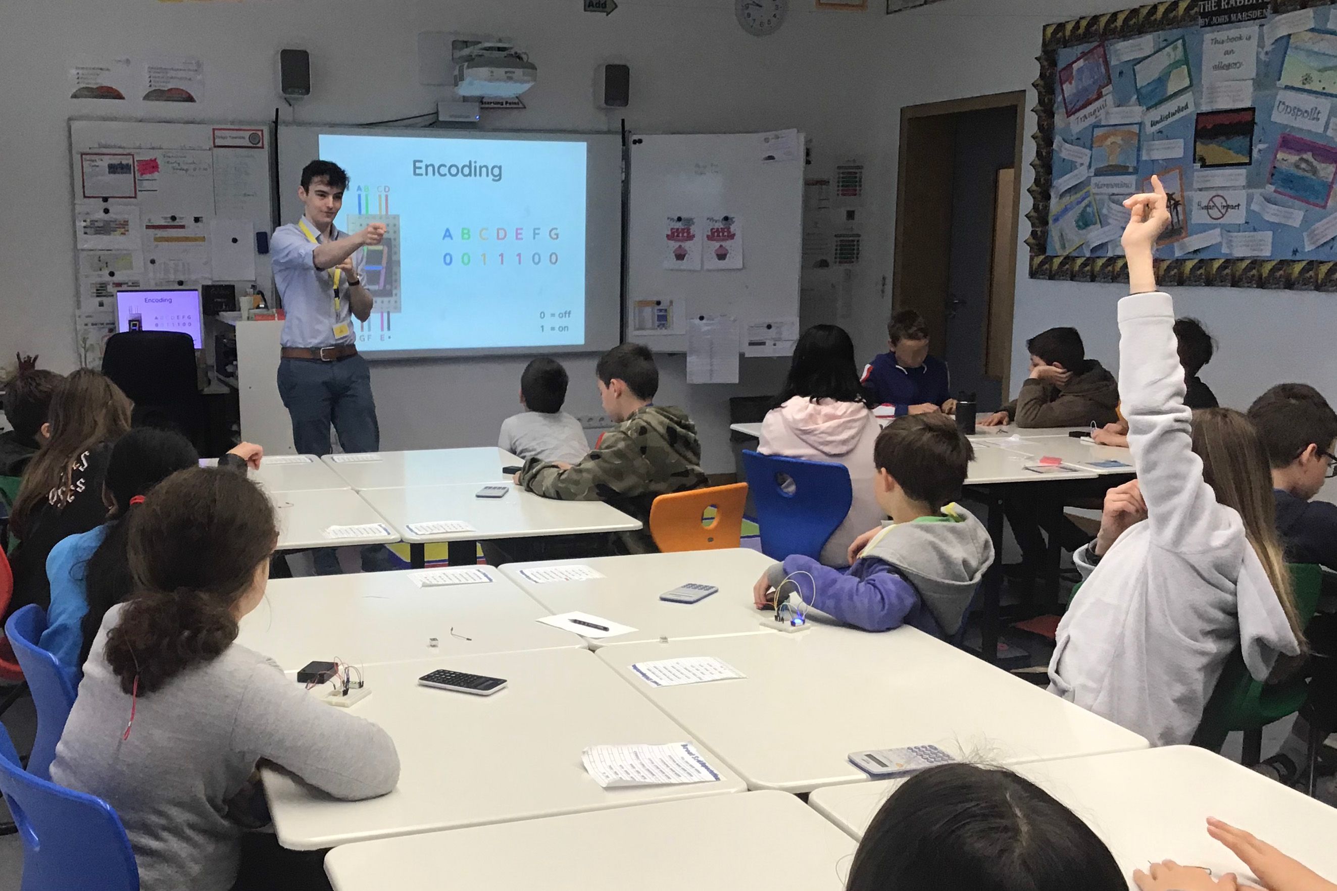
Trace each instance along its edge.
{"label": "boy in dark olive-brown jacket leaning head on hand", "polygon": [[1086,358],[1082,335],[1072,327],[1052,327],[1025,342],[1031,375],[1016,399],[980,421],[993,427],[1016,421],[1019,427],[1104,426],[1118,419],[1119,382],[1104,366]]}

